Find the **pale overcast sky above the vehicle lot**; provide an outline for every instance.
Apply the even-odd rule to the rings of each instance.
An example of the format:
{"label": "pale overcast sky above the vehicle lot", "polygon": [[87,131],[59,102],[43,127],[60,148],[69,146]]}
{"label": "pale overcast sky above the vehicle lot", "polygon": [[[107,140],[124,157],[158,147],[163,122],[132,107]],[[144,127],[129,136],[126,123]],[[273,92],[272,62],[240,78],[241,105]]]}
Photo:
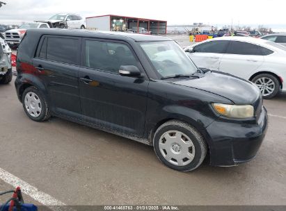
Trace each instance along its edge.
{"label": "pale overcast sky above the vehicle lot", "polygon": [[[0,0],[0,24],[48,19],[58,12],[83,17],[126,15],[167,20],[170,24],[260,25],[286,28],[285,0]],[[276,26],[277,27],[277,26]]]}

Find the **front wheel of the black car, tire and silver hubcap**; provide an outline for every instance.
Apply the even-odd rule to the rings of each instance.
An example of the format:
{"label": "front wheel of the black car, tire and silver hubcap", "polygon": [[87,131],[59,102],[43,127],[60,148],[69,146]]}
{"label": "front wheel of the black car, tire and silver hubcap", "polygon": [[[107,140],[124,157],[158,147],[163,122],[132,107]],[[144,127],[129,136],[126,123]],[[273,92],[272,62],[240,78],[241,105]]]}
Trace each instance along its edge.
{"label": "front wheel of the black car, tire and silver hubcap", "polygon": [[207,144],[193,126],[182,121],[167,121],[154,134],[154,151],[166,166],[177,171],[192,171],[202,164]]}

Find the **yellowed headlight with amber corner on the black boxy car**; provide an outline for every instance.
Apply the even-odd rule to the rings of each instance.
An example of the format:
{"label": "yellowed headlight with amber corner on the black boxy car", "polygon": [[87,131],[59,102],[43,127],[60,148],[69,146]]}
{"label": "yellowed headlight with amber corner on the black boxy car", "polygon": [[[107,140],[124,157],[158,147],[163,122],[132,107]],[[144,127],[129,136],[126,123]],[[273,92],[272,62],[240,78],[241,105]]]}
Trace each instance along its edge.
{"label": "yellowed headlight with amber corner on the black boxy car", "polygon": [[228,105],[221,103],[212,103],[214,110],[220,115],[230,118],[250,118],[254,116],[252,105]]}

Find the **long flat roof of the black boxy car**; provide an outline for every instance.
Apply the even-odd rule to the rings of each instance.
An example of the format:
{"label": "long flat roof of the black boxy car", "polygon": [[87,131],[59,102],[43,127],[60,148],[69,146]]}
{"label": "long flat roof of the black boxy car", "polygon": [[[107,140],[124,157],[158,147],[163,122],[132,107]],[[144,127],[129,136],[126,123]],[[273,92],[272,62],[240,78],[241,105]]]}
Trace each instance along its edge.
{"label": "long flat roof of the black boxy car", "polygon": [[37,28],[28,29],[27,32],[40,33],[42,35],[69,35],[75,37],[95,37],[95,38],[106,38],[114,40],[134,40],[134,41],[170,41],[168,37],[161,37],[157,35],[142,35],[137,33],[124,33],[124,32],[113,32],[113,31],[91,31],[85,29],[61,29],[61,28]]}

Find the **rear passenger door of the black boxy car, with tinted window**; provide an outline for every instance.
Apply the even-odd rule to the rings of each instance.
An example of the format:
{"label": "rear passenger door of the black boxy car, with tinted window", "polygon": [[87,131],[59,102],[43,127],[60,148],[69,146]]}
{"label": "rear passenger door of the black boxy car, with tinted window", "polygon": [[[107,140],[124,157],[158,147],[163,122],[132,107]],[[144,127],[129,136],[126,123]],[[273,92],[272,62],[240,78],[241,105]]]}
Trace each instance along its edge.
{"label": "rear passenger door of the black boxy car, with tinted window", "polygon": [[80,39],[45,35],[33,58],[33,66],[44,83],[51,109],[58,115],[79,119]]}

